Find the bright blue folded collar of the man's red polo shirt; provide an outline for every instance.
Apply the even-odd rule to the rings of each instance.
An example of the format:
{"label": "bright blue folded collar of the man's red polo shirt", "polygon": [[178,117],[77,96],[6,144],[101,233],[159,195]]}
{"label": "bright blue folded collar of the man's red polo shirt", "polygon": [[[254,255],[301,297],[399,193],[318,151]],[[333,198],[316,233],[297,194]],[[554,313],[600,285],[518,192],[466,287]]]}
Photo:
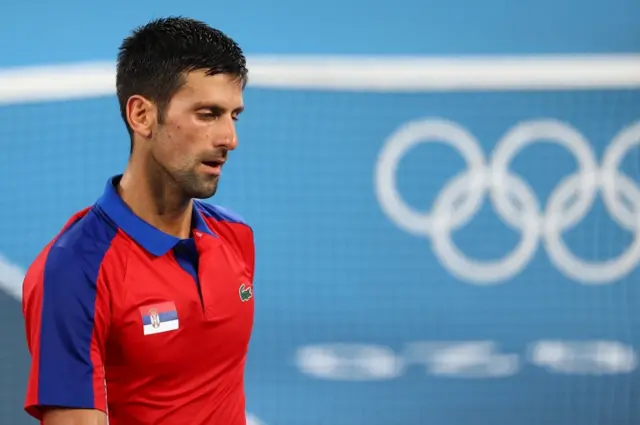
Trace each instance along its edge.
{"label": "bright blue folded collar of the man's red polo shirt", "polygon": [[[100,199],[98,199],[96,205],[100,207],[119,228],[151,254],[158,257],[166,254],[180,242],[180,239],[158,230],[131,211],[122,198],[120,198],[116,189],[121,177],[121,175],[114,176],[107,181],[104,193]],[[200,211],[198,211],[197,203],[195,202],[193,205],[192,223],[194,228],[215,236],[204,222]]]}

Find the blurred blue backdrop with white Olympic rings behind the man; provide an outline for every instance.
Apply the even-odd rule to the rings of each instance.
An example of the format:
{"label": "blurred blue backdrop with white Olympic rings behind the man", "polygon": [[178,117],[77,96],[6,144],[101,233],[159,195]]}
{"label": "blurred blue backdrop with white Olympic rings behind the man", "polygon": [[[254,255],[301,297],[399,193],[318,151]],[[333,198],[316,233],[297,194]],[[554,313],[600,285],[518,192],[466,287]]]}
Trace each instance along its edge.
{"label": "blurred blue backdrop with white Olympic rings behind the man", "polygon": [[640,421],[640,2],[3,2],[0,423],[24,270],[124,169],[117,47],[167,15],[249,58],[212,200],[257,246],[250,424]]}

